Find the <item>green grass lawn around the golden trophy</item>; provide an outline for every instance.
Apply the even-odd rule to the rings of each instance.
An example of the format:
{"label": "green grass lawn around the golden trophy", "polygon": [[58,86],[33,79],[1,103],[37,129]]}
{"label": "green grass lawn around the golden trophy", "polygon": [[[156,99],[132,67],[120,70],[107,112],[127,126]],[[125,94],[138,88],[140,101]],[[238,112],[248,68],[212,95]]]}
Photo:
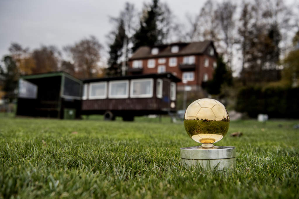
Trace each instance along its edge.
{"label": "green grass lawn around the golden trophy", "polygon": [[243,136],[217,145],[237,147],[237,167],[216,172],[180,164],[196,143],[169,118],[0,117],[0,198],[298,198],[297,123],[231,122]]}

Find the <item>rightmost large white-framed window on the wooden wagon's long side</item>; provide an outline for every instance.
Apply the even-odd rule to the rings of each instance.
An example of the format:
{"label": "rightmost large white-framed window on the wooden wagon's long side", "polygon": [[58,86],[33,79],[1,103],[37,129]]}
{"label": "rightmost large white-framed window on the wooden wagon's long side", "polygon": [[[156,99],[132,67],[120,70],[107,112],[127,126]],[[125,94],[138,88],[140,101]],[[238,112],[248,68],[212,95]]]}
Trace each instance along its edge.
{"label": "rightmost large white-framed window on the wooden wagon's long side", "polygon": [[151,98],[153,94],[153,79],[133,79],[131,80],[131,98]]}

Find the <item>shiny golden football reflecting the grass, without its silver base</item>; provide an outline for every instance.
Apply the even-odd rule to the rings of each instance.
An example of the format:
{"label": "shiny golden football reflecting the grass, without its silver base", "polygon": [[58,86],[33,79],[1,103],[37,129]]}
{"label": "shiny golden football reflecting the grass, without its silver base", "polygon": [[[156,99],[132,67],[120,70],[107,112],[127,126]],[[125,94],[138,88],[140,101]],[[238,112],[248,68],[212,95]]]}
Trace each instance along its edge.
{"label": "shiny golden football reflecting the grass, without its silver base", "polygon": [[223,104],[214,99],[198,99],[186,109],[185,129],[194,141],[213,144],[228,132],[229,115]]}

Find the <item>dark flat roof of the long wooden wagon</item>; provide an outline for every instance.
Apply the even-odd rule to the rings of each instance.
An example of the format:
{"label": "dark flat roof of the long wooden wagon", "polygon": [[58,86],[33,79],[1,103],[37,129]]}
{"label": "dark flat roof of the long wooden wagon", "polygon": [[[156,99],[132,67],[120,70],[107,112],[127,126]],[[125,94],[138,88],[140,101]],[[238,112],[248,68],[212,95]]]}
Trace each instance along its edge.
{"label": "dark flat roof of the long wooden wagon", "polygon": [[166,73],[152,73],[152,74],[128,75],[128,76],[119,76],[119,77],[85,79],[83,80],[83,83],[97,82],[97,81],[125,80],[125,79],[140,79],[140,78],[170,78],[173,82],[181,81],[181,79],[177,78],[170,72],[166,72]]}

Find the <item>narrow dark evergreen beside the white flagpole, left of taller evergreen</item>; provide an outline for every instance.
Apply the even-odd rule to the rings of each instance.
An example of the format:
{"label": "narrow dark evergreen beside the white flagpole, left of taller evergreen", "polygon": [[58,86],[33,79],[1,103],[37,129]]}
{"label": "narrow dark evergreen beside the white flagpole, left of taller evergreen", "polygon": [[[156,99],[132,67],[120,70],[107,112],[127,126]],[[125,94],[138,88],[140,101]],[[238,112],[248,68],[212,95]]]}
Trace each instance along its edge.
{"label": "narrow dark evergreen beside the white flagpole, left of taller evergreen", "polygon": [[117,31],[111,34],[114,34],[114,41],[109,45],[109,67],[106,69],[106,75],[120,76],[122,65],[120,58],[123,55],[124,40],[127,39],[123,19],[119,20]]}

